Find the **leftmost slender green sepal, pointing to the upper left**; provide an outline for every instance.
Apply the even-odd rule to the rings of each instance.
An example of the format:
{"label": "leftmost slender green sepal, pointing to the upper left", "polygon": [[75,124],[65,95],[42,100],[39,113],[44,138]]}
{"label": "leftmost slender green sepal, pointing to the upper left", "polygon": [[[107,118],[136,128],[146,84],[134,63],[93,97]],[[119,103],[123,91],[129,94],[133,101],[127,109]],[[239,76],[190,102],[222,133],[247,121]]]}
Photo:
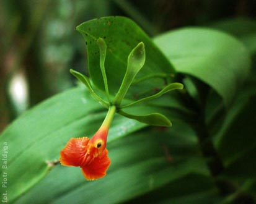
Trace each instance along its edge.
{"label": "leftmost slender green sepal, pointing to the upper left", "polygon": [[80,82],[82,82],[82,83],[84,83],[84,85],[86,85],[86,87],[90,91],[90,94],[95,98],[95,100],[99,101],[106,108],[109,107],[109,103],[107,101],[103,100],[102,98],[100,98],[100,96],[97,95],[97,93],[95,93],[95,91],[92,89],[92,85],[90,85],[90,81],[86,77],[86,75],[83,75],[80,72],[77,72],[73,69],[70,69],[69,71],[71,74],[74,75],[74,77],[76,77],[76,79],[78,79]]}

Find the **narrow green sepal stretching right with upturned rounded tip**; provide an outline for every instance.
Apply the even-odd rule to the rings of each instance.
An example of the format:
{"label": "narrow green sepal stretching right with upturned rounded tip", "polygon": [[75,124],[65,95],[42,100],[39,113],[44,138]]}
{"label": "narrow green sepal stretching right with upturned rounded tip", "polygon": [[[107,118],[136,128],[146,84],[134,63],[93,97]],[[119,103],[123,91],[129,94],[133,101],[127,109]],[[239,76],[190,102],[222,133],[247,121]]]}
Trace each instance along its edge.
{"label": "narrow green sepal stretching right with upturned rounded tip", "polygon": [[129,103],[129,104],[126,104],[124,106],[120,106],[120,108],[127,108],[129,106],[132,106],[134,104],[137,104],[137,103],[141,103],[141,102],[144,102],[144,101],[148,101],[148,100],[152,100],[154,98],[158,98],[160,96],[162,96],[164,93],[167,93],[169,91],[172,91],[172,90],[176,90],[176,89],[182,89],[184,86],[182,83],[170,83],[169,85],[167,85],[166,87],[164,87],[161,91],[159,91],[158,93],[152,95],[152,96],[148,96],[146,98],[141,98],[140,100],[138,101],[134,101],[133,103]]}

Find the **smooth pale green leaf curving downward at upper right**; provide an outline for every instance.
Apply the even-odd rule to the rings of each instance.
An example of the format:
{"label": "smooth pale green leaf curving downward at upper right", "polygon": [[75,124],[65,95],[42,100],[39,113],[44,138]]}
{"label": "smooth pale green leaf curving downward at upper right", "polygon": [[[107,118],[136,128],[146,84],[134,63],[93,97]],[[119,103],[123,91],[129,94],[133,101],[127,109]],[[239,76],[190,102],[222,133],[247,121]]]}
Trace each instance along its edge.
{"label": "smooth pale green leaf curving downward at upper right", "polygon": [[154,42],[177,72],[210,85],[230,104],[250,69],[245,46],[226,33],[207,28],[182,28],[157,36]]}

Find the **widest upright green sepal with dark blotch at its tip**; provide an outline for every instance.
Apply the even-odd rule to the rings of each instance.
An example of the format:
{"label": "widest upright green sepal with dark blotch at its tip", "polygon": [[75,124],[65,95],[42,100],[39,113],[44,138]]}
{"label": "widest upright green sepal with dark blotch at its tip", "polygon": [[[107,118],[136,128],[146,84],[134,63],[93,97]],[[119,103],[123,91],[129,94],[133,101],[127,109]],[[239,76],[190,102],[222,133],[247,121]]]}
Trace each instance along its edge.
{"label": "widest upright green sepal with dark blotch at its tip", "polygon": [[139,70],[141,70],[141,68],[144,66],[145,59],[145,47],[144,43],[141,42],[131,51],[131,53],[128,56],[125,77],[123,77],[121,86],[118,90],[117,95],[115,96],[115,100],[113,101],[113,104],[115,104],[116,106],[118,106],[123,100],[123,98],[125,98],[125,95],[131,83],[133,83],[133,80],[135,79]]}

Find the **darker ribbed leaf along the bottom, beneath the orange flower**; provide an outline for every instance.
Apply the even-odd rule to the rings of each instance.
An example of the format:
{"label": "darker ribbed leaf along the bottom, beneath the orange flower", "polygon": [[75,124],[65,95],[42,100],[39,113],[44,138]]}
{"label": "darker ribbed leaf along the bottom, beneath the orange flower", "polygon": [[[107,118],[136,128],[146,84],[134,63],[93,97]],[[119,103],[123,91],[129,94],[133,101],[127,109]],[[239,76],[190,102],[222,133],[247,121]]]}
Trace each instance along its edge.
{"label": "darker ribbed leaf along the bottom, beneath the orange flower", "polygon": [[209,177],[195,133],[183,123],[109,140],[108,150],[104,179],[87,182],[79,168],[56,166],[16,203],[120,203],[193,172]]}

